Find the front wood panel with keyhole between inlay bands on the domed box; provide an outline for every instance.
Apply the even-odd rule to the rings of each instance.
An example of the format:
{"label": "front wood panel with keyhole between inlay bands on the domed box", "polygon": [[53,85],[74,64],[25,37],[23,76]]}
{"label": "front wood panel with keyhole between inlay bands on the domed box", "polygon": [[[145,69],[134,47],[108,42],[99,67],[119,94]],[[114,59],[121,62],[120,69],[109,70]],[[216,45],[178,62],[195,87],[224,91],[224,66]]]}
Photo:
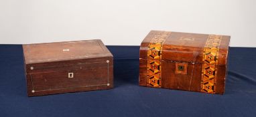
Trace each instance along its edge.
{"label": "front wood panel with keyhole between inlay bands on the domed box", "polygon": [[162,88],[200,92],[201,71],[201,64],[162,61]]}

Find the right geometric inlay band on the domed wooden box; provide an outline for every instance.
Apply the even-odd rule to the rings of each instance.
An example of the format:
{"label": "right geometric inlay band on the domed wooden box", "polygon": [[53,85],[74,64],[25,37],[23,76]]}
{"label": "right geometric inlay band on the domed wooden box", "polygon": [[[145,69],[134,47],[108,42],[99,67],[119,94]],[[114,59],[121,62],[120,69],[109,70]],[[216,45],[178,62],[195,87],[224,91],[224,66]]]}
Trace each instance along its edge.
{"label": "right geometric inlay band on the domed wooden box", "polygon": [[204,46],[201,92],[215,93],[220,41],[220,35],[209,35]]}

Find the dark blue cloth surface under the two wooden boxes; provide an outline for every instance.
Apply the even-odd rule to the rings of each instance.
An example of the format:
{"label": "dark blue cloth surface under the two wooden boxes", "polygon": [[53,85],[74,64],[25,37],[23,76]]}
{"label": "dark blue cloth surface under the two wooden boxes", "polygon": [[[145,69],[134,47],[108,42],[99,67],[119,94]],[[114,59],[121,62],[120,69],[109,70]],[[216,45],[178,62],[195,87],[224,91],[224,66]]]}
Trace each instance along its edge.
{"label": "dark blue cloth surface under the two wooden boxes", "polygon": [[231,47],[225,95],[138,86],[139,46],[107,46],[115,88],[27,97],[21,45],[0,45],[0,116],[255,116],[256,48]]}

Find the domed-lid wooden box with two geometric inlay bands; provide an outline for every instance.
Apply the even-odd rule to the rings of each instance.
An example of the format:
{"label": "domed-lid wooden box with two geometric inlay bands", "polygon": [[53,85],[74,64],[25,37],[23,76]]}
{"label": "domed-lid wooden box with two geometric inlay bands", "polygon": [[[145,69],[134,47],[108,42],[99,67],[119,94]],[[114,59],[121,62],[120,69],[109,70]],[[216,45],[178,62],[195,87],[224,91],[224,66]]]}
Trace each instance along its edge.
{"label": "domed-lid wooden box with two geometric inlay bands", "polygon": [[230,36],[150,31],[141,43],[139,85],[223,94]]}

